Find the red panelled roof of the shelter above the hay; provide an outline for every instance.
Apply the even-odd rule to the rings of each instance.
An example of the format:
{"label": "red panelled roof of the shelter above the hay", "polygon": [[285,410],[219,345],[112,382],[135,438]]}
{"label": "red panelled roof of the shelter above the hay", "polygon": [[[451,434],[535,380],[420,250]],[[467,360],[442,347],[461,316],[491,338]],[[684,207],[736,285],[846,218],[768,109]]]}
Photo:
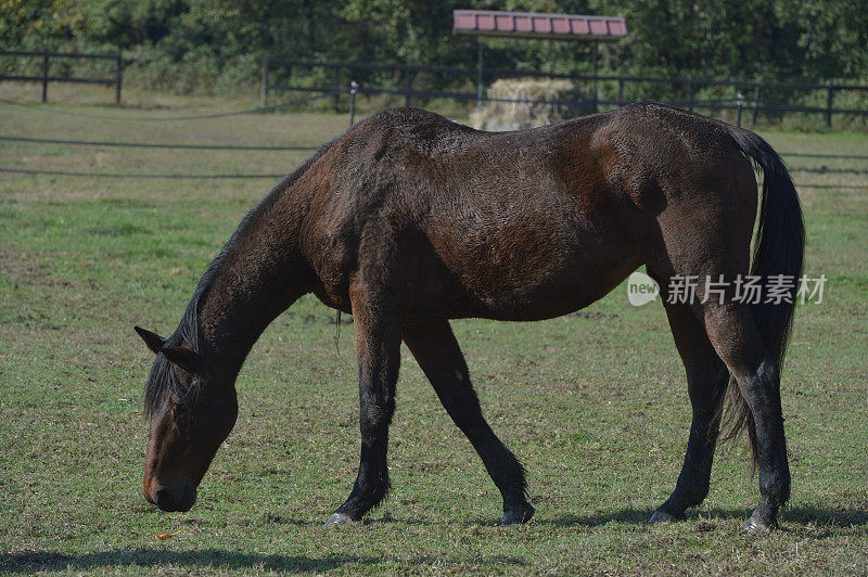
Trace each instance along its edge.
{"label": "red panelled roof of the shelter above the hay", "polygon": [[456,34],[472,36],[595,41],[621,40],[627,36],[627,23],[613,16],[454,10],[452,18]]}

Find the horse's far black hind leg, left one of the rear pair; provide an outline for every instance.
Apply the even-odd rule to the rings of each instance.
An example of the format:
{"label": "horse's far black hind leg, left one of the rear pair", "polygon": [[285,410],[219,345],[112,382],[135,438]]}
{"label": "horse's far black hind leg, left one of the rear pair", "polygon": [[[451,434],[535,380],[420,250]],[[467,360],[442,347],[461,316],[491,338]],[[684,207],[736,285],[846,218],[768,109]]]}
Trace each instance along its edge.
{"label": "horse's far black hind leg, left one of the rear pair", "polygon": [[709,495],[712,460],[719,431],[718,407],[726,392],[729,372],[712,347],[705,329],[686,305],[667,304],[675,346],[687,372],[693,420],[681,474],[672,496],[658,508],[651,522],[682,520],[685,511]]}

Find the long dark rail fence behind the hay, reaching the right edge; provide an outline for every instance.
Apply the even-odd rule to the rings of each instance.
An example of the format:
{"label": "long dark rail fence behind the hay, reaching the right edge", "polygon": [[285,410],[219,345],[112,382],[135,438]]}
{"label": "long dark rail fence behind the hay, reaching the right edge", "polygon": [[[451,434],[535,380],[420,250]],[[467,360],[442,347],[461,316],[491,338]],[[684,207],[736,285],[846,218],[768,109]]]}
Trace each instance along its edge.
{"label": "long dark rail fence behind the hay, reaching the right edge", "polygon": [[[303,74],[294,74],[304,70]],[[506,101],[526,103],[566,103],[560,101],[533,101],[522,99],[492,99],[483,93],[478,79],[490,84],[498,78],[566,79],[584,93],[583,107],[597,112],[605,107],[623,106],[638,100],[658,100],[690,111],[733,110],[739,119],[742,111],[756,124],[760,113],[809,113],[822,115],[831,126],[833,115],[868,115],[868,85],[768,82],[756,80],[718,80],[712,78],[654,78],[614,75],[571,75],[537,70],[476,68],[447,66],[413,66],[410,64],[382,64],[361,62],[316,62],[266,57],[261,67],[261,100],[268,103],[269,93],[303,91],[327,92],[360,84],[362,94],[392,94],[403,97],[405,105],[430,99],[451,99],[477,102]],[[421,80],[421,82],[420,82]],[[424,84],[424,87],[420,87]],[[467,90],[474,88],[473,91]],[[842,93],[846,105],[837,106]],[[334,107],[340,107],[339,95]],[[575,101],[571,101],[575,104]],[[852,104],[855,103],[855,104]]]}

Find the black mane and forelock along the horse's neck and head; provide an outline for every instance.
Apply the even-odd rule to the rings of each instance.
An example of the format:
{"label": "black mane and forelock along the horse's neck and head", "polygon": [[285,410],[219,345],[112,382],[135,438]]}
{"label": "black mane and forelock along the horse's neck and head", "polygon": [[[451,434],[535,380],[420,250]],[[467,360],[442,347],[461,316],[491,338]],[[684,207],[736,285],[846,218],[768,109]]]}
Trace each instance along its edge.
{"label": "black mane and forelock along the horse's neck and head", "polygon": [[[296,168],[277,187],[271,189],[271,192],[269,192],[265,198],[259,201],[256,206],[254,206],[246,214],[246,216],[241,219],[241,222],[232,233],[232,236],[230,236],[229,241],[227,241],[227,243],[224,245],[222,251],[220,251],[214,260],[210,261],[208,268],[205,269],[205,273],[199,280],[196,290],[193,293],[193,297],[190,299],[190,303],[187,305],[187,309],[184,309],[181,321],[178,324],[178,329],[175,330],[175,333],[173,333],[171,336],[166,338],[165,346],[181,346],[186,344],[194,352],[201,351],[199,313],[202,310],[202,306],[205,304],[208,293],[210,293],[210,290],[214,287],[217,279],[220,277],[224,266],[227,264],[230,255],[239,245],[240,239],[246,234],[254,221],[258,221],[260,216],[270,211],[270,208],[278,201],[281,193],[286,191],[296,180],[298,180],[298,178],[305,174],[310,165],[319,159],[320,156],[322,156],[336,142],[336,140],[339,139],[320,146],[320,149],[310,158],[305,161],[302,166]],[[194,383],[196,384],[192,387],[184,388],[181,386],[181,384],[178,382],[178,377],[175,373],[173,364],[166,359],[165,355],[157,355],[154,359],[154,363],[151,366],[151,374],[148,377],[148,384],[144,388],[145,415],[151,416],[156,411],[167,393],[180,401],[187,401],[191,398],[194,398],[199,394],[200,381],[195,380]]]}

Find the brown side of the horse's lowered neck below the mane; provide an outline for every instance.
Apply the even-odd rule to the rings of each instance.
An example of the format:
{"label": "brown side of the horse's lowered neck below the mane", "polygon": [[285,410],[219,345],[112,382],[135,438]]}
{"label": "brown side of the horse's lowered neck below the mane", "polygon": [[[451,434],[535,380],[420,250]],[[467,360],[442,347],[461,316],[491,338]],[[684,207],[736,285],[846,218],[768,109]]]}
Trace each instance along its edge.
{"label": "brown side of the horse's lowered neck below the mane", "polygon": [[268,324],[309,292],[298,251],[299,216],[271,206],[239,229],[202,305],[199,325],[203,352],[240,370]]}

